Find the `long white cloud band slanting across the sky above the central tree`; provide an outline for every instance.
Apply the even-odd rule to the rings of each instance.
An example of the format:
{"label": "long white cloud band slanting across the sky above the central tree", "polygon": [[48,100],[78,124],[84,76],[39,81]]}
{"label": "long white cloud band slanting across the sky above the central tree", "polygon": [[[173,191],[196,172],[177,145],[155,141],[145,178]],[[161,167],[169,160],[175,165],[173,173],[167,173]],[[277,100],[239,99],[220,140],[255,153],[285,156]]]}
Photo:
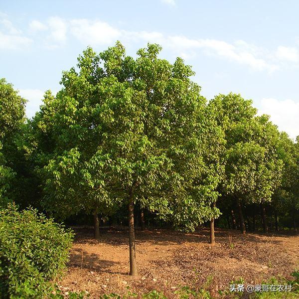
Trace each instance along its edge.
{"label": "long white cloud band slanting across the sky above the central tree", "polygon": [[[173,0],[163,1],[175,4]],[[119,29],[101,20],[66,20],[50,17],[46,24],[33,20],[29,27],[35,31],[47,29],[45,43],[48,47],[53,48],[60,46],[70,34],[84,45],[91,46],[111,45],[118,39],[125,44],[141,41],[155,42],[185,59],[195,58],[198,55],[198,50],[201,50],[206,55],[221,57],[247,65],[251,69],[269,73],[288,66],[286,64],[288,61],[299,62],[297,48],[279,46],[276,51],[270,51],[244,40],[227,42],[217,39],[192,39],[186,36],[164,35],[157,31],[129,31]]]}

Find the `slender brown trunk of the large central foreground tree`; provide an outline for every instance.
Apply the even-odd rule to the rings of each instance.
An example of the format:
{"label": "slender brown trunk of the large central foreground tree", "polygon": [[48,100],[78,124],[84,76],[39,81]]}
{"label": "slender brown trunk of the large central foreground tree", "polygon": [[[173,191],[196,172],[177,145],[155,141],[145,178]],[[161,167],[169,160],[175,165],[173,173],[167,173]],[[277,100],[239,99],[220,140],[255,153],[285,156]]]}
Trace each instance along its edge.
{"label": "slender brown trunk of the large central foreground tree", "polygon": [[134,229],[134,198],[132,191],[129,193],[129,249],[130,249],[130,275],[137,276],[135,229]]}

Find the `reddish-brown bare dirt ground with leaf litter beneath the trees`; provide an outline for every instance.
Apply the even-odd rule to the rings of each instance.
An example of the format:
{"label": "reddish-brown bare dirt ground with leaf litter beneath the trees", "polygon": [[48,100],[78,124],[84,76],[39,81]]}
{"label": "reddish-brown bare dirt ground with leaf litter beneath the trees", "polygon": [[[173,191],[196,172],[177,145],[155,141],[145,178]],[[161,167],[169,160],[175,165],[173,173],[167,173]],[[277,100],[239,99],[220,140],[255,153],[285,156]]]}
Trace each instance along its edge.
{"label": "reddish-brown bare dirt ground with leaf litter beneath the trees", "polygon": [[[252,234],[216,230],[215,246],[208,244],[208,230],[183,234],[171,230],[136,232],[140,275],[129,272],[129,242],[126,231],[75,229],[76,238],[70,262],[59,283],[64,292],[87,291],[90,298],[128,290],[145,294],[151,290],[176,298],[182,286],[206,286],[213,296],[240,278],[246,284],[259,284],[273,276],[291,278],[299,267],[299,235]],[[209,282],[209,283],[207,283]]]}

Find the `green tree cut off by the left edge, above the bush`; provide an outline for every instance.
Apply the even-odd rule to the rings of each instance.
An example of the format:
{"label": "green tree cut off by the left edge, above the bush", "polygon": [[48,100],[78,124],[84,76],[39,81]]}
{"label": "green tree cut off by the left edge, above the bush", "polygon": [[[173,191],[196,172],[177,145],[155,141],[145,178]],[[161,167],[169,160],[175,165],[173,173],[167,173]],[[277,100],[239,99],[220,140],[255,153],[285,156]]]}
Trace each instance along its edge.
{"label": "green tree cut off by the left edge, above the bush", "polygon": [[25,120],[25,103],[11,84],[0,79],[0,205],[13,199],[8,192],[16,176],[16,135]]}

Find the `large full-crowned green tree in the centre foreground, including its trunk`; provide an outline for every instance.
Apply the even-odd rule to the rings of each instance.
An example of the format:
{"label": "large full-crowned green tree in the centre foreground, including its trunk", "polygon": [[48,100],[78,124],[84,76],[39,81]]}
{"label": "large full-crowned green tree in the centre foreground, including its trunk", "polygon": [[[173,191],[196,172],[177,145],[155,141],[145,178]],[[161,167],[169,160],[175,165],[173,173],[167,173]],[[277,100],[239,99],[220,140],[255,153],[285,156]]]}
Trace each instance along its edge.
{"label": "large full-crowned green tree in the centre foreground, including its trunk", "polygon": [[206,101],[191,68],[159,59],[160,49],[149,44],[133,59],[119,42],[99,55],[88,48],[42,107],[51,113],[37,115],[55,144],[42,168],[44,205],[69,215],[126,204],[131,275],[136,203],[187,229],[219,213]]}

